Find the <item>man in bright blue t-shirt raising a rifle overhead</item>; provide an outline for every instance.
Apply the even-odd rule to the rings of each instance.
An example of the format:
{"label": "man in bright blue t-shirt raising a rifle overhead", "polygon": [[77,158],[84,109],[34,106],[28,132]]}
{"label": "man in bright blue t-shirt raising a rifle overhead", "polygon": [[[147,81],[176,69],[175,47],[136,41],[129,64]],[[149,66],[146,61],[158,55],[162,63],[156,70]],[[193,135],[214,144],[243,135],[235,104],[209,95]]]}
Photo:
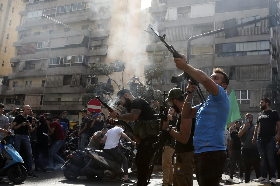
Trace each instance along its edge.
{"label": "man in bright blue t-shirt raising a rifle overhead", "polygon": [[192,76],[209,92],[205,103],[192,107],[197,86],[189,84],[186,88],[188,96],[182,110],[183,119],[196,117],[193,146],[197,182],[200,186],[218,186],[227,161],[224,132],[230,101],[225,89],[229,78],[220,68],[213,69],[213,74],[209,78],[203,71],[188,65],[185,56],[182,56],[182,59],[174,59],[176,67]]}

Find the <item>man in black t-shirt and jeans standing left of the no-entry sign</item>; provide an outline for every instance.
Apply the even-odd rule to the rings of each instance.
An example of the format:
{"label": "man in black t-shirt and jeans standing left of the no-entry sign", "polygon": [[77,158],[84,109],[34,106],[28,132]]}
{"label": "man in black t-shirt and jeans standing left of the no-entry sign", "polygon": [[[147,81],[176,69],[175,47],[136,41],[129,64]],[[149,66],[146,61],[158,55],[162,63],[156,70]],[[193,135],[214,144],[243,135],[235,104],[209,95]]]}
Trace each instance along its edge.
{"label": "man in black t-shirt and jeans standing left of the no-entry sign", "polygon": [[78,149],[80,151],[85,151],[85,142],[87,140],[88,137],[88,126],[89,124],[89,119],[87,118],[87,113],[88,111],[86,109],[81,110],[82,112],[82,123],[81,123],[81,128],[78,132],[78,136],[79,136],[79,142],[78,142]]}

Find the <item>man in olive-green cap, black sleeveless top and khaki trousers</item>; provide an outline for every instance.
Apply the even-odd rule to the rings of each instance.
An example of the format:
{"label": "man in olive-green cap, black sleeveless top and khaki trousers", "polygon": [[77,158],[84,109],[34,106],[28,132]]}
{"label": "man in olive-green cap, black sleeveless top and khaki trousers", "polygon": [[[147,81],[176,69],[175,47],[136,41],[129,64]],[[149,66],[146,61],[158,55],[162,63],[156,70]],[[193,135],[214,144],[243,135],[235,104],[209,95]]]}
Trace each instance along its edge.
{"label": "man in olive-green cap, black sleeveless top and khaki trousers", "polygon": [[184,91],[180,88],[173,88],[168,93],[165,102],[170,101],[177,113],[180,113],[176,126],[169,127],[169,121],[163,122],[162,130],[166,130],[175,138],[175,161],[173,171],[173,185],[192,186],[195,149],[192,138],[195,131],[195,118],[183,119],[181,111],[185,102]]}

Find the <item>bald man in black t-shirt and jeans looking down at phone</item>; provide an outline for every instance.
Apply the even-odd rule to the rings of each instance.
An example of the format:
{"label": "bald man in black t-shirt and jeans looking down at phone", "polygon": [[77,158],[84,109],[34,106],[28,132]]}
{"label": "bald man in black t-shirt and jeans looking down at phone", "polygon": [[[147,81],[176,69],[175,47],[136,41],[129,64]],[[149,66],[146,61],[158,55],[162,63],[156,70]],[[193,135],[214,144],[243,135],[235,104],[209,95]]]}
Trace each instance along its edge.
{"label": "bald man in black t-shirt and jeans looking down at phone", "polygon": [[33,132],[34,129],[31,128],[32,124],[32,117],[29,116],[30,113],[30,106],[25,105],[23,108],[23,114],[17,115],[13,122],[12,130],[15,130],[15,137],[14,137],[14,147],[15,150],[20,153],[20,147],[24,146],[24,150],[27,153],[27,163],[28,163],[28,177],[30,178],[38,178],[32,172],[32,150],[31,144],[29,139],[29,133]]}

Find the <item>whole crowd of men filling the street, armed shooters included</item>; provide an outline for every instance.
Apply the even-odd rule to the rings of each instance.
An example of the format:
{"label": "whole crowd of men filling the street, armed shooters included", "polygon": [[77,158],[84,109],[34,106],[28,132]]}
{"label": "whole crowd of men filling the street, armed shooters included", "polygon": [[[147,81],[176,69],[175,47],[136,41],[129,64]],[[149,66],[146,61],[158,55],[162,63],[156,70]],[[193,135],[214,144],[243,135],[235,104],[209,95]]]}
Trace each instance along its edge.
{"label": "whole crowd of men filling the street, armed shooters included", "polygon": [[[276,183],[276,166],[280,170],[280,118],[277,111],[269,108],[270,100],[260,98],[262,111],[257,116],[256,125],[253,124],[253,115],[247,113],[244,125],[241,126],[241,122],[236,121],[233,127],[226,130],[230,110],[230,101],[225,92],[229,84],[227,74],[223,69],[216,68],[208,77],[203,71],[188,65],[184,55],[182,59],[175,58],[174,62],[178,69],[201,83],[209,92],[209,97],[204,103],[193,105],[197,86],[192,84],[192,79],[185,91],[180,88],[169,90],[168,98],[164,100],[172,105],[167,121],[156,121],[153,116],[156,114],[155,106],[152,107],[143,97],[134,96],[136,87],[142,84],[134,76],[131,79],[133,81],[129,80],[127,83],[131,90],[119,90],[114,100],[115,104],[126,108],[126,114],[118,115],[113,110],[105,117],[102,113],[88,115],[87,110],[83,109],[81,124],[77,121],[71,131],[66,111],[62,113],[62,118],[50,117],[48,113],[37,116],[29,105],[25,105],[16,117],[11,114],[18,109],[8,112],[6,117],[3,115],[4,105],[0,104],[0,137],[9,135],[10,126],[11,132],[15,134],[14,147],[26,159],[28,176],[34,178],[37,176],[32,169],[33,158],[35,170],[45,169],[48,165],[45,172],[53,172],[55,164],[66,160],[63,149],[67,136],[78,136],[79,150],[85,151],[86,146],[91,149],[103,148],[122,163],[123,183],[133,184],[128,178],[127,159],[118,149],[118,142],[122,137],[137,146],[137,185],[146,186],[152,171],[151,160],[159,152],[155,145],[159,140],[157,135],[162,130],[161,134],[166,131],[169,135],[162,149],[163,186],[192,186],[194,172],[200,186],[218,186],[225,171],[230,173],[226,181],[233,183],[236,162],[239,167],[239,183],[243,183],[243,168],[245,183],[251,181],[252,166],[257,176],[255,182],[268,182],[270,179],[272,183]],[[153,105],[159,103],[153,101]],[[124,133],[116,119],[134,122],[132,135],[137,144]],[[38,159],[48,161],[44,163]]]}

